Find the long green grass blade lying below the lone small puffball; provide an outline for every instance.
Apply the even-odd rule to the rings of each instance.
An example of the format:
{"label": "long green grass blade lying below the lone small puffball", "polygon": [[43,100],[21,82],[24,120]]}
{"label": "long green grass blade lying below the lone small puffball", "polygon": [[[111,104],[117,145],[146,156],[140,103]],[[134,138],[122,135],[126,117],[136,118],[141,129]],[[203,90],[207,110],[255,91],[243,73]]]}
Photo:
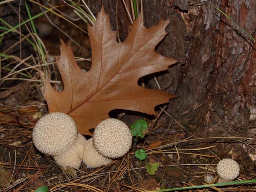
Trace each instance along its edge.
{"label": "long green grass blade lying below the lone small puffball", "polygon": [[179,188],[172,188],[172,189],[160,189],[160,190],[155,190],[155,192],[200,189],[200,188],[207,188],[207,187],[214,187],[214,186],[227,186],[227,185],[236,185],[236,184],[244,184],[244,183],[255,183],[255,182],[256,182],[256,179],[252,179],[252,180],[239,180],[239,181],[233,181],[233,182],[227,182],[227,183],[215,183],[215,184],[209,184],[209,185],[188,186],[188,187],[179,187]]}

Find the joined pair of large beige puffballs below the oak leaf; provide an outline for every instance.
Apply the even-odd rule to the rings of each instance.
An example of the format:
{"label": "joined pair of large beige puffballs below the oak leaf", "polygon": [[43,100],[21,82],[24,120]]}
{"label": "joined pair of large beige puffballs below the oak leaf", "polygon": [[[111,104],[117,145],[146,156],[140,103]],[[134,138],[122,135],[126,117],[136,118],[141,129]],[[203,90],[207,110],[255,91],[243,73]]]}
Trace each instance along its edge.
{"label": "joined pair of large beige puffballs below the oak leaf", "polygon": [[79,168],[107,165],[114,158],[124,156],[131,148],[129,127],[118,119],[105,119],[95,128],[93,137],[86,140],[78,133],[76,123],[65,113],[43,116],[35,124],[32,134],[35,147],[51,155],[60,166]]}

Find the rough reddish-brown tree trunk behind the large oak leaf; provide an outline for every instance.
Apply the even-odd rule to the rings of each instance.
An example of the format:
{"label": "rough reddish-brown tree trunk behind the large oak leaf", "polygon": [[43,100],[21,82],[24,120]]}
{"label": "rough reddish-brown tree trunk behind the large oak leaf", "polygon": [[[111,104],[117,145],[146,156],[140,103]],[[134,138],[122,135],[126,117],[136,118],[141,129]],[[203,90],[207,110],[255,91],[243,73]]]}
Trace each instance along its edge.
{"label": "rough reddish-brown tree trunk behind the large oak leaf", "polygon": [[[125,2],[131,12],[130,1]],[[170,18],[166,28],[169,34],[156,52],[180,61],[168,73],[155,76],[161,88],[179,96],[170,101],[167,111],[190,131],[197,131],[196,137],[253,137],[256,134],[256,44],[237,23],[255,38],[256,2],[210,2],[235,22],[199,0],[143,0],[145,27],[153,26],[162,17]],[[101,0],[87,3],[95,14],[102,5]],[[124,41],[130,23],[122,1],[108,0],[103,4],[113,30],[118,29]],[[140,0],[138,5],[140,10]],[[157,88],[152,78],[148,86]],[[232,147],[233,144],[225,147],[224,152]],[[234,158],[242,153],[242,145],[237,145],[236,150],[230,153]]]}

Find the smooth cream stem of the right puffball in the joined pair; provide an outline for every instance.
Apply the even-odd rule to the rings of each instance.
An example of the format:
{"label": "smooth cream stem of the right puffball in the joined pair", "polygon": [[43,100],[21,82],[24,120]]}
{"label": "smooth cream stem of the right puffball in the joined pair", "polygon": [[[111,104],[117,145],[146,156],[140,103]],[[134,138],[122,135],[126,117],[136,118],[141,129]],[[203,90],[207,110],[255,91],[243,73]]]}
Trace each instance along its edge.
{"label": "smooth cream stem of the right puffball in the joined pair", "polygon": [[93,146],[93,138],[87,140],[84,144],[83,161],[88,168],[100,167],[113,162],[112,159],[102,156]]}

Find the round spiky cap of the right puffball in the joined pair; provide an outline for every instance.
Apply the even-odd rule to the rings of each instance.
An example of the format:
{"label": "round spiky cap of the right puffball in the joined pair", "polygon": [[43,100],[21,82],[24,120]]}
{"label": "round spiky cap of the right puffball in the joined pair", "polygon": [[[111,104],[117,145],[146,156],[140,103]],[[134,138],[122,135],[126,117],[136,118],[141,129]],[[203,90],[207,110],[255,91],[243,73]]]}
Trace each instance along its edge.
{"label": "round spiky cap of the right puffball in the joined pair", "polygon": [[118,119],[105,119],[95,128],[93,145],[105,157],[122,157],[130,150],[131,144],[129,127]]}

